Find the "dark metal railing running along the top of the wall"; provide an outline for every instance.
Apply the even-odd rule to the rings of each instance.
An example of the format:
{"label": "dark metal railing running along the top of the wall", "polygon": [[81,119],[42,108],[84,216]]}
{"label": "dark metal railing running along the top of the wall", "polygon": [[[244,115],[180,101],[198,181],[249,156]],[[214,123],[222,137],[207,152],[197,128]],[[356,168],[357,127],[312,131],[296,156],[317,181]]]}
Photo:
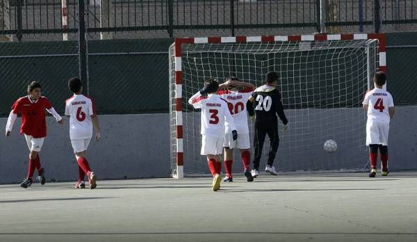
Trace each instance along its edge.
{"label": "dark metal railing running along the top of the wall", "polygon": [[[0,35],[22,40],[30,34],[76,33],[78,4],[75,0],[0,0]],[[363,31],[363,26],[370,25],[417,24],[413,0],[88,0],[85,13],[88,33],[163,31],[170,37],[187,30],[235,35],[238,29],[337,32],[344,26]]]}

